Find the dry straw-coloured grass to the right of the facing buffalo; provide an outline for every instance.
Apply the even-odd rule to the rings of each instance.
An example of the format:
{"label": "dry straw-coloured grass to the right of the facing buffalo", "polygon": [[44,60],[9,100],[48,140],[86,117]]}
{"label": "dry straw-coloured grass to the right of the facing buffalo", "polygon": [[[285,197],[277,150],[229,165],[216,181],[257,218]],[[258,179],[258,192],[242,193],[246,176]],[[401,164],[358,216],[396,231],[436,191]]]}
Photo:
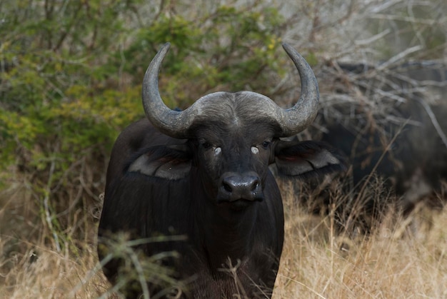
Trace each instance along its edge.
{"label": "dry straw-coloured grass to the right of the facing buffalo", "polygon": [[[372,235],[348,240],[331,233],[330,217],[308,216],[293,207],[288,204],[273,298],[447,297],[445,209],[421,209],[411,216],[417,228],[390,212]],[[426,230],[423,223],[433,226]]]}

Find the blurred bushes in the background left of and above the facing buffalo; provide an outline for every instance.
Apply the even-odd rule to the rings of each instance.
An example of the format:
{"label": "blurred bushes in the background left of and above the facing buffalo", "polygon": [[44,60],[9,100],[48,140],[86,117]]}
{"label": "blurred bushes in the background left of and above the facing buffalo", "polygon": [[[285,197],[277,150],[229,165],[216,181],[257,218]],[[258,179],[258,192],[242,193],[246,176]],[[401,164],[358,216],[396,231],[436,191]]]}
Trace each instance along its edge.
{"label": "blurred bushes in the background left of and above the facing buffalo", "polygon": [[442,0],[1,1],[2,273],[12,255],[39,256],[34,244],[74,256],[94,244],[111,146],[144,117],[141,80],[166,41],[172,108],[220,90],[288,106],[298,76],[282,41],[317,74],[343,59],[445,59],[446,16]]}

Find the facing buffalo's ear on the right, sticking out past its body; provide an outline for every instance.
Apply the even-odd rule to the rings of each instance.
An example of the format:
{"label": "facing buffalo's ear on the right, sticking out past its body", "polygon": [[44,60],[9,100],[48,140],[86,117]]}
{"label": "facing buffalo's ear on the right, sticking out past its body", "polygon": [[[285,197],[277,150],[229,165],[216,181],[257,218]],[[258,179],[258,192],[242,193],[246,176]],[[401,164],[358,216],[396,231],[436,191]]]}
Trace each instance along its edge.
{"label": "facing buffalo's ear on the right, sticking out past its body", "polygon": [[346,170],[345,159],[331,146],[318,141],[279,141],[275,163],[283,176],[321,176]]}

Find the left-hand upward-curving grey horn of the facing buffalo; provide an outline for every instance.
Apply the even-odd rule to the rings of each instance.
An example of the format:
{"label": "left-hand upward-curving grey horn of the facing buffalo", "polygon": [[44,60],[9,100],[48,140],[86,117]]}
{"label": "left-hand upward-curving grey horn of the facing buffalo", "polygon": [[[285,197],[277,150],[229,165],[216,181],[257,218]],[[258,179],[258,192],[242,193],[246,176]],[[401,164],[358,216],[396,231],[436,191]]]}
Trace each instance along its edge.
{"label": "left-hand upward-curving grey horn of the facing buffalo", "polygon": [[190,109],[174,111],[164,104],[159,92],[159,71],[161,62],[171,44],[164,44],[149,64],[144,75],[142,99],[144,112],[149,121],[162,133],[175,138],[186,138],[186,131],[193,118]]}

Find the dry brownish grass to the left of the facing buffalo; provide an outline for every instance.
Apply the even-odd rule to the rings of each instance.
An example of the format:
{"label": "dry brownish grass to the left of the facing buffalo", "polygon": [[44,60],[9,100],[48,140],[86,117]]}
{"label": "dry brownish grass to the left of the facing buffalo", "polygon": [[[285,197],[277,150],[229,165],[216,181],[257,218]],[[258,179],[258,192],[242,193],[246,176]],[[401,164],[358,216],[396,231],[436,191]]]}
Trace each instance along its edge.
{"label": "dry brownish grass to the left of the facing buffalo", "polygon": [[[0,298],[97,298],[105,293],[106,278],[94,270],[96,225],[89,213],[76,208],[64,230],[51,232],[28,181],[14,176],[14,182],[0,193]],[[71,235],[79,226],[90,232],[81,239]],[[66,238],[56,244],[55,234]]]}

